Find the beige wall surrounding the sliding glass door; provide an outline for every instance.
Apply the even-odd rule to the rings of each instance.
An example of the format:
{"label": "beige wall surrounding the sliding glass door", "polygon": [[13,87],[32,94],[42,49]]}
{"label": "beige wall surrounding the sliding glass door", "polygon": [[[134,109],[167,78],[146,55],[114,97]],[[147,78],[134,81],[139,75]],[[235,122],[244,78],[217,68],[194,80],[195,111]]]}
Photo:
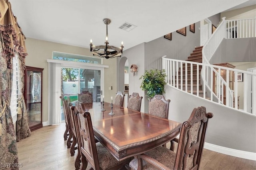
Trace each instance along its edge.
{"label": "beige wall surrounding the sliding glass door", "polygon": [[[26,48],[28,56],[26,57],[26,65],[44,68],[43,71],[43,122],[48,121],[48,63],[47,59],[52,59],[52,51],[59,51],[63,53],[72,53],[78,55],[92,56],[89,49],[82,47],[75,47],[71,45],[64,45],[60,43],[53,43],[50,41],[42,41],[38,39],[27,38]],[[106,102],[110,102],[111,96],[116,94],[116,59],[103,59],[103,64],[108,65],[109,68],[104,70],[104,96]],[[111,79],[111,81],[110,81]],[[111,87],[113,90],[108,90]]]}

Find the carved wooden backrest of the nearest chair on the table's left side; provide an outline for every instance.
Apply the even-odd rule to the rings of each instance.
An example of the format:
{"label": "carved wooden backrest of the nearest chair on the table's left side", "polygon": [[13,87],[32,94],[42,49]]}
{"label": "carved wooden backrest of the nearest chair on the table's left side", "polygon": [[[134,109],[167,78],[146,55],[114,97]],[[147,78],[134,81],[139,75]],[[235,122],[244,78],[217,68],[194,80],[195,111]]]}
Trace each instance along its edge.
{"label": "carved wooden backrest of the nearest chair on the table's left side", "polygon": [[[86,157],[86,161],[90,163],[93,169],[98,170],[100,169],[100,165],[98,161],[98,154],[94,140],[94,133],[90,113],[85,111],[82,102],[76,102],[75,107],[77,109],[77,112],[74,112],[74,118],[77,127],[76,132],[77,135],[79,135],[79,137],[77,136],[77,138],[81,155],[82,157]],[[82,161],[82,163],[84,162]]]}

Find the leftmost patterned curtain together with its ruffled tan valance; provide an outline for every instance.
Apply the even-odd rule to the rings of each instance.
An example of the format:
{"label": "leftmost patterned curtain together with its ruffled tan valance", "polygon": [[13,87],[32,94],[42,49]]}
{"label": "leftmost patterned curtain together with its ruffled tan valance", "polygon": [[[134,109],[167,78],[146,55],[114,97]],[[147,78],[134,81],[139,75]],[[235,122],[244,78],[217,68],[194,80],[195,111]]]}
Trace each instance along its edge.
{"label": "leftmost patterned curtain together with its ruffled tan valance", "polygon": [[[24,69],[27,55],[23,35],[11,4],[8,0],[0,0],[0,162],[1,170],[16,170],[10,166],[18,163],[18,153],[14,133],[14,125],[10,111],[12,94],[12,57],[18,53]],[[21,92],[22,93],[22,92]],[[20,95],[19,95],[20,98]],[[22,97],[20,98],[22,100]],[[21,104],[24,103],[24,100]],[[26,112],[25,112],[26,113]],[[20,128],[21,129],[21,128]],[[21,130],[20,130],[21,131]],[[8,165],[8,166],[6,166]]]}

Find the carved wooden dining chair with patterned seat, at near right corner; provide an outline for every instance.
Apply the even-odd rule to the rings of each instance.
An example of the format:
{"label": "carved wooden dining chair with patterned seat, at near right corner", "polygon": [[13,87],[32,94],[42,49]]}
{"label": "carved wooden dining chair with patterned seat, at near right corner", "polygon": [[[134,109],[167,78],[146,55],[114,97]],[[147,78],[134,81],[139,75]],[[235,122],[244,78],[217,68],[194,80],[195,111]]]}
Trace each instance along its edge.
{"label": "carved wooden dining chair with patterned seat, at near right corner", "polygon": [[205,107],[194,108],[189,119],[182,123],[176,153],[166,147],[157,147],[135,156],[129,166],[132,170],[198,170],[204,149],[208,119]]}

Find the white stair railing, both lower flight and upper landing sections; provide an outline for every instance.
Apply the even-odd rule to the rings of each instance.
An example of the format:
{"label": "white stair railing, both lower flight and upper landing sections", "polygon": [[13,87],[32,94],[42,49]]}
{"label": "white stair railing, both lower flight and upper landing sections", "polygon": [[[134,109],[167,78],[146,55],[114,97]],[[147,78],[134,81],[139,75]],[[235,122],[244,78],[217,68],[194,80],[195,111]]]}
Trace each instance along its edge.
{"label": "white stair railing, both lower flight and upper landing sections", "polygon": [[[166,70],[167,84],[198,97],[239,109],[238,75],[242,75],[244,85],[244,108],[242,109],[256,114],[256,97],[253,97],[253,95],[256,96],[256,88],[248,89],[256,86],[256,74],[209,63],[224,38],[248,37],[256,37],[256,18],[227,21],[222,18],[222,22],[202,48],[202,63],[162,57],[162,68]],[[201,73],[200,69],[202,69]],[[226,77],[221,76],[221,72],[224,71]],[[233,79],[232,82],[225,81],[230,79]]]}

